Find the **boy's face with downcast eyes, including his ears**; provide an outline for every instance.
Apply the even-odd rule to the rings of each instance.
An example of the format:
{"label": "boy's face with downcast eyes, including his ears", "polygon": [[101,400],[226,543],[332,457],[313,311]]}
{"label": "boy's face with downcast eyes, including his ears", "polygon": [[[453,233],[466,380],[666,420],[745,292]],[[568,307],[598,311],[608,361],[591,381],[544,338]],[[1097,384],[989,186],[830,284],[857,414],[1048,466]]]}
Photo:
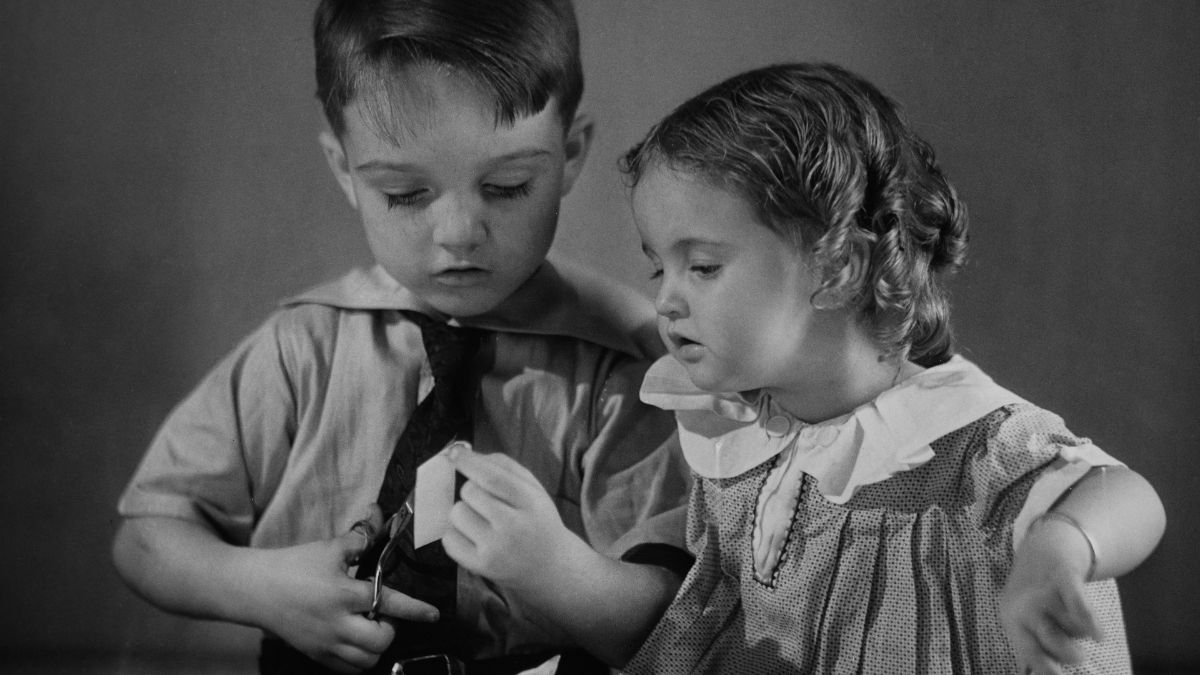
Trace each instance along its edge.
{"label": "boy's face with downcast eyes, including his ears", "polygon": [[545,258],[590,124],[564,133],[552,100],[498,125],[469,83],[430,68],[406,77],[413,95],[383,115],[386,130],[355,98],[342,137],[326,131],[322,145],[388,274],[442,313],[478,315]]}

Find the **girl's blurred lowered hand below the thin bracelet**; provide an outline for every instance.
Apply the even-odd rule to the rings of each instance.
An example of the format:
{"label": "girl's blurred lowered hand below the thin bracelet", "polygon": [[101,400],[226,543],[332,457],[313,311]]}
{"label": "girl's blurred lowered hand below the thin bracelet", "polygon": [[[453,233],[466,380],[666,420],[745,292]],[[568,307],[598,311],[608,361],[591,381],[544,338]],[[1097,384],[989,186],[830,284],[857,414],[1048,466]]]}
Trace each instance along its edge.
{"label": "girl's blurred lowered hand below the thin bracelet", "polygon": [[1060,675],[1064,663],[1084,659],[1081,639],[1103,638],[1084,595],[1091,554],[1076,546],[1081,539],[1073,531],[1054,520],[1040,522],[1016,551],[1000,621],[1016,652],[1018,673]]}

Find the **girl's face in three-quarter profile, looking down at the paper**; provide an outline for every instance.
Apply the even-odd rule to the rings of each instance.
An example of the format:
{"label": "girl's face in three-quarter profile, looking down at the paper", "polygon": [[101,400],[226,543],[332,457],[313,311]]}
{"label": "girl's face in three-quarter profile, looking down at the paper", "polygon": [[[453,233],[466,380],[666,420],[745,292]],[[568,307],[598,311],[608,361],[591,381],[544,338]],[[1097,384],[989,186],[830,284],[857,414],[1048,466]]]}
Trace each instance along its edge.
{"label": "girl's face in three-quarter profile, looking down at the paper", "polygon": [[632,197],[659,281],[659,331],[710,392],[790,392],[820,382],[844,323],[811,298],[810,256],[763,225],[739,195],[652,165]]}

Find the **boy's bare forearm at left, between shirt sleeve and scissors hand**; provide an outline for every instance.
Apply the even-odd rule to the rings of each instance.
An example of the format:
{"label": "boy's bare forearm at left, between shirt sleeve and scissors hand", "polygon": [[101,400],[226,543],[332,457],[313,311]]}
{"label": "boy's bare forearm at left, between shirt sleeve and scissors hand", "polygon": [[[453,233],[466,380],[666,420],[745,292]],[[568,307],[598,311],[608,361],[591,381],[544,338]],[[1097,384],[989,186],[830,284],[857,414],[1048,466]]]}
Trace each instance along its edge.
{"label": "boy's bare forearm at left, between shirt sleeve and scissors hand", "polygon": [[198,522],[125,520],[113,542],[118,573],[142,597],[172,613],[259,626],[252,598],[257,551],[233,546]]}

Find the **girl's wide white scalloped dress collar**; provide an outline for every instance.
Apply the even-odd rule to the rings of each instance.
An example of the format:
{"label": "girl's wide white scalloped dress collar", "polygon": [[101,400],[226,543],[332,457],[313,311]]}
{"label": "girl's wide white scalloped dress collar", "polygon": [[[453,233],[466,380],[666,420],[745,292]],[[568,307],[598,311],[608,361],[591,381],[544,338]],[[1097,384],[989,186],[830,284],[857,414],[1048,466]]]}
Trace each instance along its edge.
{"label": "girl's wide white scalloped dress collar", "polygon": [[958,356],[818,424],[796,419],[766,395],[703,392],[670,356],[650,366],[641,395],[676,412],[684,456],[700,476],[731,478],[794,444],[793,461],[834,503],[928,462],[930,443],[1021,400]]}

